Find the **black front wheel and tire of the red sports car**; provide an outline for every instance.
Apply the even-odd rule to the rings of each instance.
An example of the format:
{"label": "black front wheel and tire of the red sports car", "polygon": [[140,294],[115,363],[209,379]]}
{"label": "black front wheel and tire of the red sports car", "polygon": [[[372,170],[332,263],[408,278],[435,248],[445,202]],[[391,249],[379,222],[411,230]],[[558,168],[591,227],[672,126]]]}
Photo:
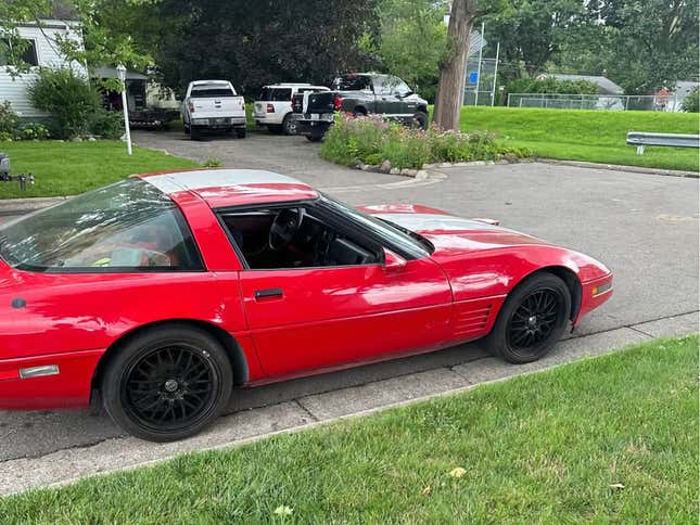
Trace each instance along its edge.
{"label": "black front wheel and tire of the red sports car", "polygon": [[545,356],[561,338],[571,313],[571,292],[551,273],[535,273],[509,295],[484,346],[521,364]]}

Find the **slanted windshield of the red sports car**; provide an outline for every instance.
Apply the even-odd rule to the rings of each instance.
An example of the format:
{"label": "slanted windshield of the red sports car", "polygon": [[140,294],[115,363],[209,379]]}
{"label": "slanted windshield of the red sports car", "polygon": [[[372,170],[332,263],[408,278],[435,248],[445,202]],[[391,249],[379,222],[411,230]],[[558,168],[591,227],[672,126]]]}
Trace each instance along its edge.
{"label": "slanted windshield of the red sports car", "polygon": [[349,216],[356,222],[371,229],[384,241],[389,242],[393,246],[397,246],[404,254],[411,258],[417,259],[425,257],[434,251],[430,241],[418,233],[400,228],[393,222],[364,214],[362,212],[349,207],[340,201],[335,201],[326,194],[321,194],[321,203],[332,208],[334,212]]}

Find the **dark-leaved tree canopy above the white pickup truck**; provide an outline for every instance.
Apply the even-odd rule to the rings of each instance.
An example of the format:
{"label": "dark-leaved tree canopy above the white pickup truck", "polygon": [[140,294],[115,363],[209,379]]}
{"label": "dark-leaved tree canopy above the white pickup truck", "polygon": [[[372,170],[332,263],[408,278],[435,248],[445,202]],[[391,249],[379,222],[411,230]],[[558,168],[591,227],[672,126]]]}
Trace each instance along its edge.
{"label": "dark-leaved tree canopy above the white pickup truck", "polygon": [[161,0],[139,15],[155,27],[147,34],[136,21],[129,33],[177,92],[198,78],[226,78],[252,95],[266,84],[328,82],[367,64],[358,42],[376,33],[376,8],[377,0]]}

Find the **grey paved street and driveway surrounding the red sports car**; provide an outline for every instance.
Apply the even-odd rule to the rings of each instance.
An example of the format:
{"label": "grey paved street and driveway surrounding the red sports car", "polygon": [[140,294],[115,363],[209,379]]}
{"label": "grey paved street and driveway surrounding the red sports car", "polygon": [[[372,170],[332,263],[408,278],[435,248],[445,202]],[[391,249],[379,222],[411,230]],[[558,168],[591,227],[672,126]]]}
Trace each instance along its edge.
{"label": "grey paved street and driveway surrounding the red sports car", "polygon": [[352,204],[410,202],[498,218],[604,261],[615,272],[614,296],[538,364],[506,366],[463,345],[243,389],[230,407],[238,413],[180,445],[117,438],[122,433],[106,417],[82,411],[0,412],[0,479],[9,481],[0,482],[0,494],[460,388],[653,335],[698,331],[697,179],[532,163],[448,168],[440,170],[442,181],[395,185],[397,177],[327,164],[316,144],[295,137],[253,133],[196,143],[177,133],[137,133],[136,141],[200,161],[215,156],[231,167],[291,174]]}

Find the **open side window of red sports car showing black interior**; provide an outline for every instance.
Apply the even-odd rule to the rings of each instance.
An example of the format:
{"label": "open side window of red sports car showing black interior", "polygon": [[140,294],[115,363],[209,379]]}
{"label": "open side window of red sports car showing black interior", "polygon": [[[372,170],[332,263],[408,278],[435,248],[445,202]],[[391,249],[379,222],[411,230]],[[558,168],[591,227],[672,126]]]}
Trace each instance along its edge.
{"label": "open side window of red sports car showing black interior", "polygon": [[304,207],[224,214],[221,220],[251,269],[380,262],[381,248],[351,238]]}

